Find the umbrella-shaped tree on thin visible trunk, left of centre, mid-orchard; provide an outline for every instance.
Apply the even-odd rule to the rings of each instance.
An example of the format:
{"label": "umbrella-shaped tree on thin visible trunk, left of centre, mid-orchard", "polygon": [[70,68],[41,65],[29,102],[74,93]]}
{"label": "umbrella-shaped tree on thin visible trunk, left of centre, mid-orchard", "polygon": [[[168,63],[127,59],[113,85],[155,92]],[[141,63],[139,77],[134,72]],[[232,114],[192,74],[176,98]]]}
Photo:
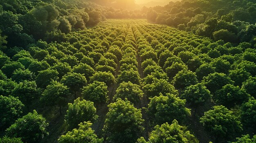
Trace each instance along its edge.
{"label": "umbrella-shaped tree on thin visible trunk, left of centre, mid-orchard", "polygon": [[74,92],[74,98],[76,99],[76,92],[86,85],[87,80],[84,75],[81,75],[80,73],[67,73],[67,75],[62,77],[61,83]]}

